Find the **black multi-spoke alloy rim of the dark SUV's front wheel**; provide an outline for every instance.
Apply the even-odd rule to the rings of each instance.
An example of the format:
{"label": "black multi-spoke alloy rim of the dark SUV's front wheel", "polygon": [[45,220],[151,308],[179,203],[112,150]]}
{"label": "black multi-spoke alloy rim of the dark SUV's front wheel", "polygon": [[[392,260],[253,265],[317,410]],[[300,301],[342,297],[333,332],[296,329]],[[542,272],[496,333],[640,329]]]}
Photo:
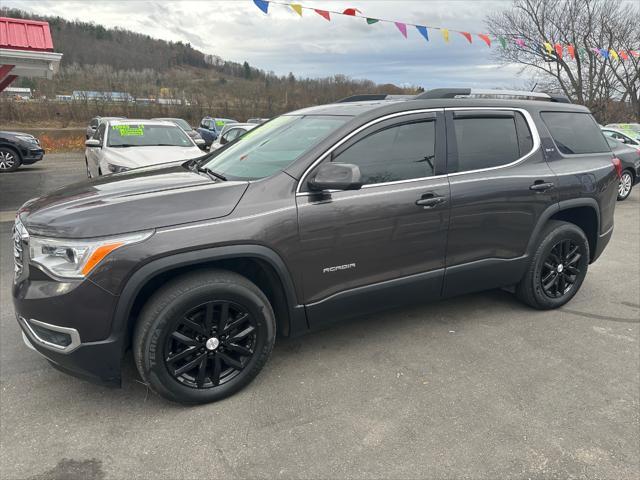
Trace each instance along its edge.
{"label": "black multi-spoke alloy rim of the dark SUV's front wheel", "polygon": [[211,301],[187,311],[166,336],[164,358],[176,381],[217,387],[236,377],[255,353],[256,322],[241,305]]}

